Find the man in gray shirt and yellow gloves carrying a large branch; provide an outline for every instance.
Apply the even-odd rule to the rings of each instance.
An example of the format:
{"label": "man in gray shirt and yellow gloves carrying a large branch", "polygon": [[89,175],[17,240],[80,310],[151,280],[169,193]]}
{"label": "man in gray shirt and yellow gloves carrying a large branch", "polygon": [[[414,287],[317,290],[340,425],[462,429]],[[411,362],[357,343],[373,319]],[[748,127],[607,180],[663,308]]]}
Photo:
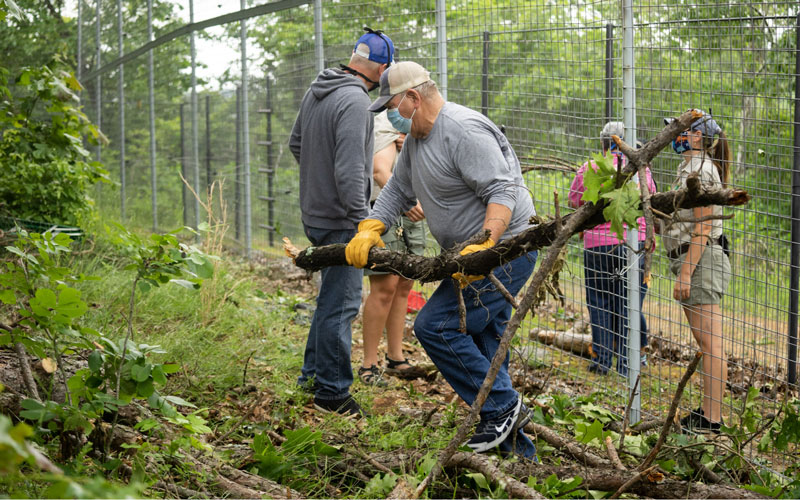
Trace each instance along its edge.
{"label": "man in gray shirt and yellow gloves carrying a large branch", "polygon": [[[409,135],[392,177],[347,246],[348,263],[364,267],[370,248],[383,246],[381,233],[417,200],[442,248],[490,231],[485,243],[467,246],[462,255],[491,248],[528,226],[536,212],[505,135],[480,113],[445,102],[422,66],[401,62],[384,72],[380,97],[369,109],[388,109],[393,126]],[[493,274],[516,295],[535,261],[536,252],[531,252]],[[452,280],[442,282],[419,312],[414,332],[447,382],[471,405],[511,317],[511,306],[489,279],[458,279],[463,292]],[[468,335],[459,331],[457,293],[464,294]],[[506,357],[481,410],[481,422],[466,444],[478,452],[499,446],[503,452],[532,458],[536,449],[521,430],[527,418],[522,398],[511,387]]]}

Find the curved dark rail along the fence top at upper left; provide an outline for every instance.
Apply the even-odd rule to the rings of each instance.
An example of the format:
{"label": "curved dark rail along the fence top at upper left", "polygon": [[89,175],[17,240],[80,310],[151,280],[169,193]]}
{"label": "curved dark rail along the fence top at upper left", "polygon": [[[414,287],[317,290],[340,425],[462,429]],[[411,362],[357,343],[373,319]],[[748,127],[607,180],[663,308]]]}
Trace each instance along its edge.
{"label": "curved dark rail along the fence top at upper left", "polygon": [[176,30],[161,35],[151,42],[147,42],[146,44],[131,52],[128,52],[122,57],[118,57],[117,59],[104,64],[100,68],[90,71],[89,73],[83,75],[82,79],[91,80],[92,78],[98,77],[104,73],[108,73],[114,68],[117,68],[118,66],[125,64],[126,62],[131,61],[142,54],[145,54],[149,50],[155,49],[156,47],[170,42],[179,36],[188,35],[194,31],[201,31],[213,26],[219,26],[221,24],[228,24],[235,21],[250,19],[251,17],[263,16],[264,14],[270,14],[272,12],[292,9],[294,7],[299,7],[300,5],[306,5],[310,2],[311,0],[278,0],[277,2],[256,5],[255,7],[250,7],[249,9],[223,14],[211,19],[206,19],[205,21],[183,25]]}

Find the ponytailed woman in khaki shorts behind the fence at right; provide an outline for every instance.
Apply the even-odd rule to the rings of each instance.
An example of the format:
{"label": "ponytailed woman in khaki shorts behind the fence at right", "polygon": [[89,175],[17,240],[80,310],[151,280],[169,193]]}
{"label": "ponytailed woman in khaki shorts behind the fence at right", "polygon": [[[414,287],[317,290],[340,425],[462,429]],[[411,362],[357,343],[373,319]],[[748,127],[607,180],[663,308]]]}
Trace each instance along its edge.
{"label": "ponytailed woman in khaki shorts behind the fence at right", "polygon": [[[683,157],[673,189],[685,187],[692,174],[699,175],[703,187],[709,189],[724,188],[730,180],[727,137],[710,114],[700,112],[702,118],[672,142],[675,152]],[[676,221],[668,223],[661,233],[670,269],[676,276],[673,297],[683,306],[703,352],[703,404],[682,418],[681,426],[716,433],[722,423],[722,398],[728,380],[719,304],[731,277],[721,215],[718,205],[682,209]]]}

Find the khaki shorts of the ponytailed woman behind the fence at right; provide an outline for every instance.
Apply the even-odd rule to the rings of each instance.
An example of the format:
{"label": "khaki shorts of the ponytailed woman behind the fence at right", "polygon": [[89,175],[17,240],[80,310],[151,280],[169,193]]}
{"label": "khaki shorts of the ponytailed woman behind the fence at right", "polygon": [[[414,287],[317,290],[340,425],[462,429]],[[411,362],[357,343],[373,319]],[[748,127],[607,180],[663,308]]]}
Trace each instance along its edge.
{"label": "khaki shorts of the ponytailed woman behind the fence at right", "polygon": [[[681,254],[680,258],[672,259],[669,269],[672,274],[677,276],[681,272],[681,266],[686,260],[688,252]],[[731,281],[731,262],[722,247],[719,245],[709,245],[703,251],[700,262],[692,274],[692,288],[689,291],[689,298],[681,301],[681,304],[696,306],[700,304],[719,304],[722,295],[728,289]]]}

